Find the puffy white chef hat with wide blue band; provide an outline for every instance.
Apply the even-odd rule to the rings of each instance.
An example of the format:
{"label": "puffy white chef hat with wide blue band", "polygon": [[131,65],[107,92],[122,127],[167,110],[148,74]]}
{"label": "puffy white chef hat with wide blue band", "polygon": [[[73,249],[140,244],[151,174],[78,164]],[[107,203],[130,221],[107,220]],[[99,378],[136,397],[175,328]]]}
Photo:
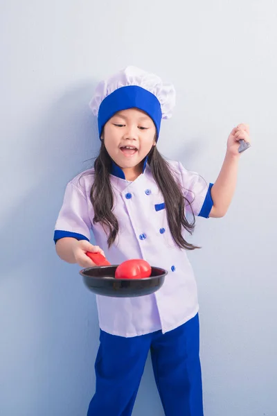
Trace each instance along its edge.
{"label": "puffy white chef hat with wide blue band", "polygon": [[98,116],[99,135],[116,112],[136,107],[151,117],[159,137],[161,119],[169,119],[174,106],[173,85],[163,84],[159,76],[136,67],[127,67],[101,81],[89,103],[93,114]]}

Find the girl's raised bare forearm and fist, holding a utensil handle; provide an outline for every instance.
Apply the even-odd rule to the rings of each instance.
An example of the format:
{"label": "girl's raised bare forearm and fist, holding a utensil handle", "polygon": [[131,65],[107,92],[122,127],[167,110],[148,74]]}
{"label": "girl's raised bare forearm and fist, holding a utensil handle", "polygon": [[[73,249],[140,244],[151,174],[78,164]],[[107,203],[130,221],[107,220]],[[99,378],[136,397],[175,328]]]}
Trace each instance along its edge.
{"label": "girl's raised bare forearm and fist, holding a utensil handle", "polygon": [[219,218],[224,216],[233,199],[238,175],[238,162],[240,159],[240,153],[238,153],[240,146],[238,140],[240,139],[250,142],[249,126],[246,124],[240,124],[236,128],[233,128],[229,135],[226,156],[220,175],[218,175],[211,189],[213,208],[210,217]]}

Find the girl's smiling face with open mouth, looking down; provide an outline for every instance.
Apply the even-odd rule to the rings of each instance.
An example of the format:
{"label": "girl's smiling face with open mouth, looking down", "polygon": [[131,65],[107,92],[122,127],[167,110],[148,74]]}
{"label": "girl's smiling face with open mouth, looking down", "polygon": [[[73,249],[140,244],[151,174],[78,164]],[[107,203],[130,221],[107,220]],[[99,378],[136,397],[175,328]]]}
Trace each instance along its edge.
{"label": "girl's smiling face with open mouth, looking down", "polygon": [[102,136],[107,152],[122,168],[126,179],[141,174],[143,159],[156,144],[154,122],[136,108],[114,114],[105,124]]}

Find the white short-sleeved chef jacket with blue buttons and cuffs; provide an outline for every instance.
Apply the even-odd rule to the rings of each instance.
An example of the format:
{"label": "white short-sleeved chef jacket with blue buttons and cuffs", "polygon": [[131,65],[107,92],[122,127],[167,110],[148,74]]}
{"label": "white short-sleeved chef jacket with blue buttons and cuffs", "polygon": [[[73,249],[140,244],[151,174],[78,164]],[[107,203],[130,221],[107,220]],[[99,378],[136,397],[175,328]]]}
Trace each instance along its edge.
{"label": "white short-sleeved chef jacket with blue buttons and cuffs", "polygon": [[[212,184],[207,184],[197,173],[187,171],[179,162],[169,163],[195,216],[208,218],[213,206]],[[100,328],[117,336],[133,337],[159,329],[166,333],[179,327],[199,309],[197,286],[186,250],[178,248],[172,239],[163,195],[150,166],[145,164],[143,173],[130,182],[113,164],[110,180],[119,232],[111,248],[108,248],[102,225],[93,224],[94,212],[89,198],[93,171],[85,171],[67,185],[55,225],[55,241],[68,236],[89,241],[92,229],[96,244],[104,250],[111,264],[140,258],[151,266],[168,270],[163,286],[151,295],[96,295]],[[186,206],[186,214],[189,210]]]}

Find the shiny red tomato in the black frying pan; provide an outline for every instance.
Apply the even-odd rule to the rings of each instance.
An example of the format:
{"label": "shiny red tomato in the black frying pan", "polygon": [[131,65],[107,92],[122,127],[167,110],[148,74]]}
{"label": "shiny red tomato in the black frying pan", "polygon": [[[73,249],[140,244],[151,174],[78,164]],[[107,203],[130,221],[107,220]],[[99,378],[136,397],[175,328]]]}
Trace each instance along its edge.
{"label": "shiny red tomato in the black frying pan", "polygon": [[116,268],[116,279],[143,279],[151,275],[151,266],[142,259],[123,261]]}

